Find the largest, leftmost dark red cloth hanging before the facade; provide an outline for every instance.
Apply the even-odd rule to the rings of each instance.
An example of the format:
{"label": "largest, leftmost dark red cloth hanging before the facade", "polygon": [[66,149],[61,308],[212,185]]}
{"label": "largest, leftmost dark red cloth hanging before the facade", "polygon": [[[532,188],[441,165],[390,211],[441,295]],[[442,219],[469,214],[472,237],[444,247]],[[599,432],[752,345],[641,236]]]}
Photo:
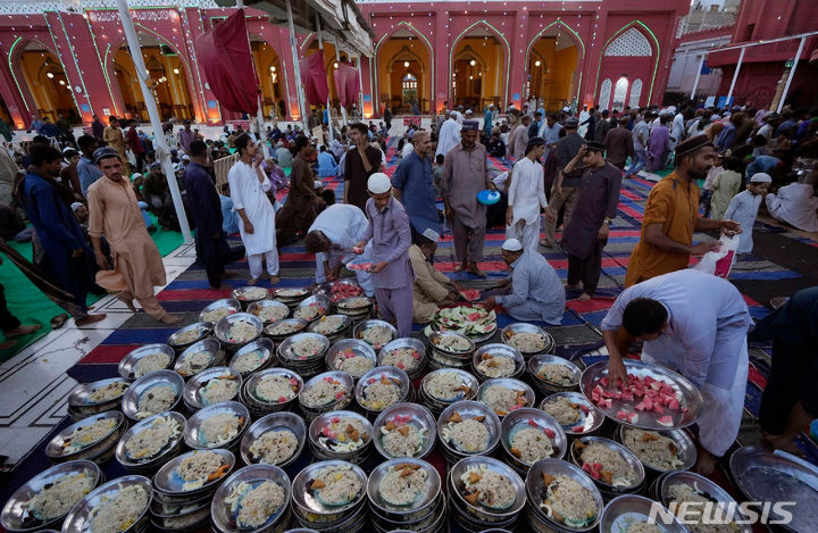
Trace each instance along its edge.
{"label": "largest, leftmost dark red cloth hanging before the facade", "polygon": [[250,52],[245,10],[240,9],[196,38],[199,64],[210,90],[231,111],[254,114],[261,87]]}

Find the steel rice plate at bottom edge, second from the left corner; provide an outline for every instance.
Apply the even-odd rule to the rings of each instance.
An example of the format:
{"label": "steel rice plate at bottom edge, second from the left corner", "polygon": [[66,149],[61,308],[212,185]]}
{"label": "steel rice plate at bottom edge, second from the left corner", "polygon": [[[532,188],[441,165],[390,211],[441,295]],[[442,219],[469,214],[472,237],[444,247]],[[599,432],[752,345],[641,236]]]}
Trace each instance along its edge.
{"label": "steel rice plate at bottom edge, second from the left corner", "polygon": [[146,523],[152,499],[151,480],[147,477],[118,477],[80,500],[65,517],[62,531],[138,531]]}

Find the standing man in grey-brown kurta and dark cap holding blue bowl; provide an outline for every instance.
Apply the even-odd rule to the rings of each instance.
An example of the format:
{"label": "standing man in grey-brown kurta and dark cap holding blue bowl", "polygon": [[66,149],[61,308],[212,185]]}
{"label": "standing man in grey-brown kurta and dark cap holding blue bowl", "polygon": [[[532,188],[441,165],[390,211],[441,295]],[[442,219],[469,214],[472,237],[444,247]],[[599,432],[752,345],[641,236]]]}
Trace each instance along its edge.
{"label": "standing man in grey-brown kurta and dark cap holding blue bowl", "polygon": [[477,201],[481,190],[494,190],[488,170],[486,147],[477,142],[478,123],[465,120],[461,141],[446,155],[440,190],[446,204],[446,218],[455,240],[455,271],[470,271],[486,277],[477,263],[483,260],[486,240],[486,206]]}

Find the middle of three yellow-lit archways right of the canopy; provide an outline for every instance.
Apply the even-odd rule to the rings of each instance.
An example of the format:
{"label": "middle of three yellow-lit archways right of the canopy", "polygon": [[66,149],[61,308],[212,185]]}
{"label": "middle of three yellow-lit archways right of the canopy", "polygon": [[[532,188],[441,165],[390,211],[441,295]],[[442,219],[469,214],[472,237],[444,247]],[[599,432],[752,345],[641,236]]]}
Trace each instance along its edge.
{"label": "middle of three yellow-lit archways right of the canopy", "polygon": [[482,113],[489,104],[498,108],[508,82],[506,47],[485,26],[475,26],[452,53],[452,98],[455,105]]}

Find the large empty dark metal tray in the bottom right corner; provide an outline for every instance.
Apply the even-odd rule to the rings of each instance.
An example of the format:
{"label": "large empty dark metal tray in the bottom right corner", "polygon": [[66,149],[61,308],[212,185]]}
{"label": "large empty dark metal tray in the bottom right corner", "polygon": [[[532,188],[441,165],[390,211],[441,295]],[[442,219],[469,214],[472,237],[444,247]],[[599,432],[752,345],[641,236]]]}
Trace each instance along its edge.
{"label": "large empty dark metal tray in the bottom right corner", "polygon": [[793,533],[815,531],[818,517],[818,468],[806,461],[777,450],[771,452],[761,446],[739,448],[730,457],[730,473],[748,501],[798,502],[792,508],[792,520],[773,508],[771,520]]}

